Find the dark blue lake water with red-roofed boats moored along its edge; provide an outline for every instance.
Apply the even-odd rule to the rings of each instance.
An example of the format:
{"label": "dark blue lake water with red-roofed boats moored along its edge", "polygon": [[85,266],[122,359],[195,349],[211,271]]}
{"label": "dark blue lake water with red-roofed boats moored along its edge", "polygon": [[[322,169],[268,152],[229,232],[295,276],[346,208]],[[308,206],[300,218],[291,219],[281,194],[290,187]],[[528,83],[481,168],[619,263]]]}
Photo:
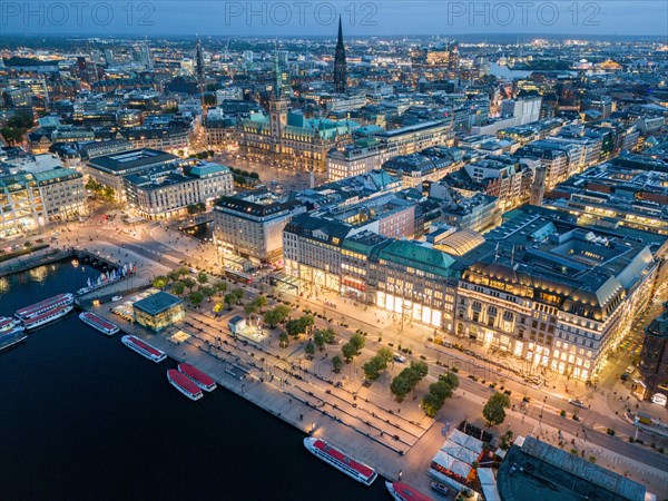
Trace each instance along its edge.
{"label": "dark blue lake water with red-roofed boats moored along its edge", "polygon": [[[0,278],[0,315],[77,289],[69,263]],[[81,286],[81,285],[79,285]],[[218,389],[198,402],[75,314],[0,353],[0,499],[386,500],[317,460],[303,434]]]}

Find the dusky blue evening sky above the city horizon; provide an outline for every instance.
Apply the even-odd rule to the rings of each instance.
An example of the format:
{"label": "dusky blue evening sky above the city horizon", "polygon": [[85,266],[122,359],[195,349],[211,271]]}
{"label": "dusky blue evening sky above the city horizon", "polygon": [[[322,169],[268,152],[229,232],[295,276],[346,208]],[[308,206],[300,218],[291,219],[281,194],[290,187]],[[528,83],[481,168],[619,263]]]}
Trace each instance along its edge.
{"label": "dusky blue evening sky above the city horizon", "polygon": [[572,33],[668,36],[665,0],[10,1],[0,32],[298,36]]}

